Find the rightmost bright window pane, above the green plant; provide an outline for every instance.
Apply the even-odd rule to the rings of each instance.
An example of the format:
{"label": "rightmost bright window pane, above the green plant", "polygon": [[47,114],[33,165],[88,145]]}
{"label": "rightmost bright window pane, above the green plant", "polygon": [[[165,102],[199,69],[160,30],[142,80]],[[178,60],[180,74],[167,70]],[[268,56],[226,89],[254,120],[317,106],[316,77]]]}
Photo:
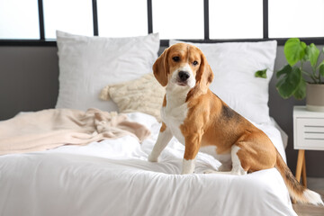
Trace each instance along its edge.
{"label": "rightmost bright window pane, above the green plant", "polygon": [[324,0],[269,1],[269,37],[323,37]]}

